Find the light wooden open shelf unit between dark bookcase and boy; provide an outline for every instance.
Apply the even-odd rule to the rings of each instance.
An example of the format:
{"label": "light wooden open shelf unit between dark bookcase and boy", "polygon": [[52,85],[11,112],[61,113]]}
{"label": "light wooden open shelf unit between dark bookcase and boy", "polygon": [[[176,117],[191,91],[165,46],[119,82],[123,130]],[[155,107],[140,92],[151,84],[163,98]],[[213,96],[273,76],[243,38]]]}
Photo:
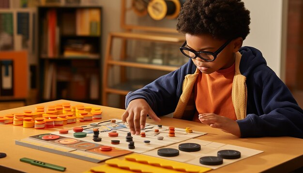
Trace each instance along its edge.
{"label": "light wooden open shelf unit between dark bookcase and boy", "polygon": [[[114,39],[121,39],[121,55],[120,58],[113,57],[112,51],[115,47]],[[106,55],[104,60],[104,68],[103,68],[103,90],[102,90],[102,104],[108,105],[108,94],[119,94],[121,96],[125,96],[128,92],[134,91],[138,88],[132,87],[115,87],[110,86],[108,83],[109,78],[109,70],[113,66],[118,66],[121,69],[120,73],[120,86],[131,85],[132,81],[129,81],[127,78],[127,72],[125,70],[126,67],[129,68],[139,68],[139,69],[149,69],[154,71],[166,71],[172,72],[174,70],[179,69],[182,65],[167,65],[167,64],[152,64],[152,63],[143,63],[136,61],[127,60],[127,42],[128,41],[144,41],[144,42],[152,42],[152,43],[165,43],[165,44],[176,44],[181,45],[185,41],[185,37],[179,34],[153,34],[153,33],[134,33],[134,32],[112,32],[109,33],[106,43]],[[179,51],[178,49],[174,51]],[[180,53],[181,54],[181,53]],[[159,76],[158,76],[159,77]],[[146,82],[146,81],[145,81]],[[152,82],[152,81],[150,81]],[[149,83],[149,82],[148,82]],[[148,84],[145,83],[145,84]],[[145,85],[144,84],[144,85]],[[142,85],[142,87],[144,86]],[[121,101],[122,103],[123,101]]]}

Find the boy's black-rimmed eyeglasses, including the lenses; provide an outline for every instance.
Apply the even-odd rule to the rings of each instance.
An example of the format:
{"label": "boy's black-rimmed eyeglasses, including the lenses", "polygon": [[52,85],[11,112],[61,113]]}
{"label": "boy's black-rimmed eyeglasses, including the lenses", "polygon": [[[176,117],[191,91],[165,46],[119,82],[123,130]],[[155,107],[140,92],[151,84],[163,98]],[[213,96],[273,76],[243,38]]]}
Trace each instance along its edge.
{"label": "boy's black-rimmed eyeglasses, including the lenses", "polygon": [[224,43],[218,50],[215,52],[209,52],[209,51],[195,51],[193,49],[190,49],[188,47],[184,47],[186,45],[186,41],[182,44],[180,47],[180,51],[183,55],[185,55],[188,58],[201,58],[205,61],[214,61],[218,54],[231,42],[232,39],[228,40],[226,43]]}

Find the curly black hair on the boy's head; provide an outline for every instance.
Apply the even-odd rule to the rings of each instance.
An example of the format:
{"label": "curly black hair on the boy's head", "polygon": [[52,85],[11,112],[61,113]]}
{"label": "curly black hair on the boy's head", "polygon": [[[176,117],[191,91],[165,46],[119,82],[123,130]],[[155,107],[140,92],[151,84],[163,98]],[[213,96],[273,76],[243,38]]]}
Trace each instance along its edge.
{"label": "curly black hair on the boy's head", "polygon": [[184,34],[211,34],[220,40],[249,34],[250,16],[241,0],[187,0],[178,16],[177,30]]}

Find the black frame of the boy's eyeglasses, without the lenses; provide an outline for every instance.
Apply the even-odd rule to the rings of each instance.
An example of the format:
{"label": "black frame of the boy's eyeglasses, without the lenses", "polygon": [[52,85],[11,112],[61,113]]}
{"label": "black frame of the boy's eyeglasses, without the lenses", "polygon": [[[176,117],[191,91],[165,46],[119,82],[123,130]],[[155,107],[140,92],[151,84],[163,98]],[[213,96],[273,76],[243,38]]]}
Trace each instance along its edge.
{"label": "black frame of the boy's eyeglasses, without the lenses", "polygon": [[[186,41],[182,44],[182,46],[179,48],[180,49],[180,51],[181,51],[181,53],[183,54],[183,55],[185,55],[186,57],[188,57],[188,58],[192,58],[192,57],[190,57],[189,55],[187,55],[187,54],[185,54],[182,50],[187,50],[187,51],[190,51],[190,52],[192,52],[192,53],[194,53],[195,54],[195,57],[194,58],[192,58],[192,59],[195,59],[195,58],[197,58],[197,57],[199,57],[199,58],[201,58],[201,59],[203,59],[203,60],[205,60],[205,61],[214,61],[216,58],[217,58],[217,56],[218,56],[218,54],[230,43],[232,41],[232,39],[229,39],[229,40],[227,40],[227,42],[226,43],[224,43],[221,47],[219,47],[218,48],[218,50],[216,50],[215,52],[210,52],[210,51],[195,51],[195,50],[193,50],[193,49],[190,49],[190,48],[187,48],[187,47],[184,47],[185,45],[186,45]],[[213,56],[213,59],[212,60],[209,60],[209,59],[205,59],[205,58],[203,58],[203,57],[201,57],[200,56],[200,54],[201,53],[205,53],[205,54],[210,54],[210,55],[212,55]]]}

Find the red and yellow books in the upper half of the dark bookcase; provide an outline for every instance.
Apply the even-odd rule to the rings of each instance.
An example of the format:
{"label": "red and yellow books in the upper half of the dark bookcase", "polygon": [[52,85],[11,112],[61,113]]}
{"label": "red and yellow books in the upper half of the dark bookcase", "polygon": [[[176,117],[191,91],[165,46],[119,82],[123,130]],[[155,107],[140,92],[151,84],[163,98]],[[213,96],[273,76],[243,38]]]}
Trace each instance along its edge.
{"label": "red and yellow books in the upper half of the dark bookcase", "polygon": [[[42,55],[47,57],[88,57],[98,58],[94,54],[96,49],[93,43],[86,39],[70,39],[62,42],[66,36],[100,36],[101,12],[100,9],[76,9],[76,12],[62,13],[58,19],[56,9],[46,12],[43,21]],[[61,45],[62,44],[62,45]],[[63,47],[63,52],[61,49]],[[77,48],[78,47],[78,48]]]}

